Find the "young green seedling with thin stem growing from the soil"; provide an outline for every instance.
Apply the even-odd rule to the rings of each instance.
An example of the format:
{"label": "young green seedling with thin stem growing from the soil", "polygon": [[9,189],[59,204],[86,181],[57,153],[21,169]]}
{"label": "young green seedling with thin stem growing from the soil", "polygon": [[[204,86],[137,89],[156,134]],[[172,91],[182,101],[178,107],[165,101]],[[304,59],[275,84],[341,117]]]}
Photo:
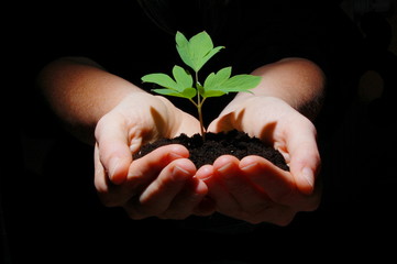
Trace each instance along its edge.
{"label": "young green seedling with thin stem growing from the soil", "polygon": [[[181,97],[190,100],[197,108],[202,139],[205,127],[202,122],[202,105],[209,97],[220,97],[229,92],[250,91],[256,87],[261,77],[253,75],[231,76],[232,67],[225,67],[218,73],[211,73],[200,84],[198,74],[202,66],[223,46],[213,47],[212,40],[207,32],[200,32],[187,40],[180,32],[176,33],[176,48],[181,61],[194,70],[194,76],[187,69],[175,65],[173,77],[166,74],[150,74],[142,77],[144,82],[153,82],[163,88],[153,89],[164,96]],[[194,100],[196,98],[196,100]]]}

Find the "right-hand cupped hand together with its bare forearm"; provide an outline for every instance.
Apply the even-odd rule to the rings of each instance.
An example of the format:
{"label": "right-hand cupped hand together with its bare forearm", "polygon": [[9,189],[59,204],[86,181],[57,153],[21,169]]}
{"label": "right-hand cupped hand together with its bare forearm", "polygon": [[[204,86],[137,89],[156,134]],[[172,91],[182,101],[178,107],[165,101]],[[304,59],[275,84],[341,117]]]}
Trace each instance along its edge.
{"label": "right-hand cupped hand together with its bare forearm", "polygon": [[262,82],[253,94],[239,94],[209,131],[238,129],[260,138],[284,155],[289,172],[258,156],[239,161],[224,155],[197,175],[218,211],[253,223],[286,226],[296,212],[315,210],[320,202],[316,177],[321,160],[310,119],[319,111],[324,77],[313,63],[300,58],[283,59],[253,74],[262,76]]}

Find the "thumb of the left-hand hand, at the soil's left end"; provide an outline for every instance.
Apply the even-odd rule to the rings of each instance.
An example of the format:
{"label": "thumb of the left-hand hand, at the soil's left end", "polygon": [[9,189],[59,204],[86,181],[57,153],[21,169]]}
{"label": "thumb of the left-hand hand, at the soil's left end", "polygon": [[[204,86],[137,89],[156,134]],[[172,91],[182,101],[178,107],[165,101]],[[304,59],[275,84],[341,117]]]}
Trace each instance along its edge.
{"label": "thumb of the left-hand hand, at the soil's left end", "polygon": [[96,129],[99,158],[113,184],[125,180],[132,162],[128,130],[122,123],[104,117]]}

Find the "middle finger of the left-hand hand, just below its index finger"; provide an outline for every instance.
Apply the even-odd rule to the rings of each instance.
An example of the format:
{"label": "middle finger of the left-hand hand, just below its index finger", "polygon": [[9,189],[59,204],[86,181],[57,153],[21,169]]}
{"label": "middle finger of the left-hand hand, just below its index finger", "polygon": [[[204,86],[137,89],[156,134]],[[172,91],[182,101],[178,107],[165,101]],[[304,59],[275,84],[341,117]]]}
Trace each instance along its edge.
{"label": "middle finger of the left-hand hand, just below its index finger", "polygon": [[187,158],[170,163],[139,196],[139,199],[132,200],[130,213],[132,216],[137,213],[139,217],[163,215],[195,174],[196,167]]}

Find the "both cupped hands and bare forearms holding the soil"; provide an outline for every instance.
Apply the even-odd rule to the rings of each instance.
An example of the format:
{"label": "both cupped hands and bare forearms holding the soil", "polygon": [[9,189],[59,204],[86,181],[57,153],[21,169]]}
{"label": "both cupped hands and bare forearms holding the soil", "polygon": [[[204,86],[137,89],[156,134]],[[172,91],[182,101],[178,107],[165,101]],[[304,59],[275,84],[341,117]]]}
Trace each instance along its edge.
{"label": "both cupped hands and bare forearms holding the soil", "polygon": [[262,76],[262,82],[253,94],[239,94],[208,130],[239,129],[272,143],[290,172],[258,156],[239,161],[229,155],[196,168],[181,145],[132,161],[131,154],[146,142],[199,133],[199,122],[88,58],[48,64],[38,86],[68,130],[95,144],[95,185],[104,205],[123,207],[133,219],[184,219],[217,210],[253,223],[285,226],[296,212],[313,210],[320,201],[320,156],[310,119],[319,110],[323,75],[300,58],[252,74]]}

